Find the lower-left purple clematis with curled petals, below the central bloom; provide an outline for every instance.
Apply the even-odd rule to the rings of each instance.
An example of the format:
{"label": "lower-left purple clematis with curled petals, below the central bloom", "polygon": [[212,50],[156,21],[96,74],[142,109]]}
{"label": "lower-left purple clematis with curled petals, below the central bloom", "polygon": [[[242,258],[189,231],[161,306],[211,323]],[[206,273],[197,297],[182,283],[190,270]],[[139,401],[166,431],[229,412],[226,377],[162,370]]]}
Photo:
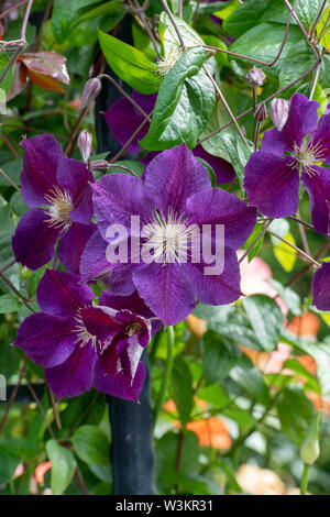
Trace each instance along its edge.
{"label": "lower-left purple clematis with curled petals, below the central bloom", "polygon": [[94,386],[138,400],[144,382],[140,359],[151,338],[150,321],[138,315],[151,312],[136,293],[130,298],[105,293],[101,305],[94,306],[92,290],[79,280],[72,273],[46,270],[36,294],[42,312],[23,321],[14,344],[45,369],[58,398]]}

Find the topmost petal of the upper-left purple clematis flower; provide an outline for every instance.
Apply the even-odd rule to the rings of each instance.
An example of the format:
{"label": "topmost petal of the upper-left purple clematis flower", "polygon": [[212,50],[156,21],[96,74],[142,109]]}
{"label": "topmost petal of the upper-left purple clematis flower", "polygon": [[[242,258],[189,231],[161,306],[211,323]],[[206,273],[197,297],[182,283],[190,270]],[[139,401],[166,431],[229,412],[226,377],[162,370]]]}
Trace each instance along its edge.
{"label": "topmost petal of the upper-left purple clematis flower", "polygon": [[24,147],[21,174],[22,196],[28,207],[46,205],[45,195],[56,185],[56,170],[63,156],[53,135],[42,134],[21,142]]}

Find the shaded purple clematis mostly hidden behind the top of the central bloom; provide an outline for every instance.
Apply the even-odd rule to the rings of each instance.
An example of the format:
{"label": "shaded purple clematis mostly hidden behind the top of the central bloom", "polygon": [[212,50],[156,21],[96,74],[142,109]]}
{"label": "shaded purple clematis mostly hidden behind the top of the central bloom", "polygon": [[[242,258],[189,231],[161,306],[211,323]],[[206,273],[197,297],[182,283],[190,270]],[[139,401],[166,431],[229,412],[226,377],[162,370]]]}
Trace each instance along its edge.
{"label": "shaded purple clematis mostly hidden behind the top of the central bloom", "polygon": [[[150,113],[155,106],[157,95],[142,95],[133,91],[132,99],[146,112]],[[113,133],[113,136],[121,145],[124,145],[132,134],[138,130],[139,125],[143,122],[143,114],[125,98],[119,99],[113,102],[103,117]],[[128,147],[128,153],[134,154],[142,150],[139,142],[146,135],[148,124],[146,124],[140,133],[135,136]],[[155,151],[148,152],[143,158],[142,163],[147,165],[158,153]],[[207,153],[201,145],[197,145],[194,150],[195,156],[205,160],[215,170],[217,177],[217,185],[230,183],[235,177],[235,172],[232,165],[226,160],[212,156]]]}

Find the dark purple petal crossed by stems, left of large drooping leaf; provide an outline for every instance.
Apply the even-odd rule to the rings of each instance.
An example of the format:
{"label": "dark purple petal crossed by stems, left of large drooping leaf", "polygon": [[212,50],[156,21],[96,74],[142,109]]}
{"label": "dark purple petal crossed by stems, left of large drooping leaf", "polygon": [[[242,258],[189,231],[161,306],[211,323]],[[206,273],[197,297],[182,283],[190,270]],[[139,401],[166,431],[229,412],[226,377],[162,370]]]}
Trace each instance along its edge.
{"label": "dark purple petal crossed by stems, left of large drooping leaf", "polygon": [[[132,98],[146,113],[151,112],[156,101],[156,95],[145,96],[138,91],[133,92]],[[128,142],[144,120],[143,114],[125,98],[113,102],[103,113],[103,117],[112,131],[113,136],[121,145],[124,145]],[[148,124],[146,124],[131,142],[127,148],[128,153],[134,154],[141,151],[139,141],[146,135],[147,130]]]}

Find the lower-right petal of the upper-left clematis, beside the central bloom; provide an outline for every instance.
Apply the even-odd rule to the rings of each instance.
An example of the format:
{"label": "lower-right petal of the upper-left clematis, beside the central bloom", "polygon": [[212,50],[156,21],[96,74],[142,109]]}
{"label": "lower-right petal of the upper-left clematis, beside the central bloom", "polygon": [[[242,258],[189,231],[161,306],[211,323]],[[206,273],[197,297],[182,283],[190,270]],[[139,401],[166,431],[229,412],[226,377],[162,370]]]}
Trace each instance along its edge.
{"label": "lower-right petal of the upper-left clematis, beside the central bloom", "polygon": [[58,258],[70,273],[79,275],[81,255],[87,242],[96,231],[96,224],[73,222],[68,231],[62,237],[58,245]]}

